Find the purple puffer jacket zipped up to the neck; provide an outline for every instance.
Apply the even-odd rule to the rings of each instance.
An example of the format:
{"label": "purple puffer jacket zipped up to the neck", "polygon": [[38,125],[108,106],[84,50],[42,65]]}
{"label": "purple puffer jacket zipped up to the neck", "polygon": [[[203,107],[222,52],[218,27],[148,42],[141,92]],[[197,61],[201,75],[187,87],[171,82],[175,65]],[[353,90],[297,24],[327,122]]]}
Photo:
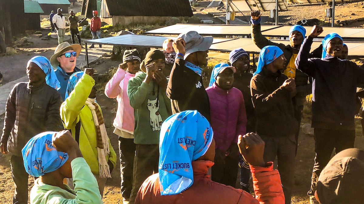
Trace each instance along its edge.
{"label": "purple puffer jacket zipped up to the neck", "polygon": [[223,90],[216,86],[206,88],[210,100],[211,127],[214,131],[215,148],[226,152],[239,135],[246,134],[244,98],[237,88]]}

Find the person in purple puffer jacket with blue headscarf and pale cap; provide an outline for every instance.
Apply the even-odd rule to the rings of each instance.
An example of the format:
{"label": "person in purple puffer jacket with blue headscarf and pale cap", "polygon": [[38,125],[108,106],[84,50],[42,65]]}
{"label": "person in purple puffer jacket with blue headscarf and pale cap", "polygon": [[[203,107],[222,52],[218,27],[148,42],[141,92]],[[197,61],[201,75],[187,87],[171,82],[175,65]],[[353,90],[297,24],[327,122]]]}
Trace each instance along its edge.
{"label": "person in purple puffer jacket with blue headscarf and pale cap", "polygon": [[238,136],[246,134],[246,111],[241,91],[233,87],[236,69],[226,63],[215,65],[206,88],[214,130],[215,159],[211,180],[235,187],[239,150]]}

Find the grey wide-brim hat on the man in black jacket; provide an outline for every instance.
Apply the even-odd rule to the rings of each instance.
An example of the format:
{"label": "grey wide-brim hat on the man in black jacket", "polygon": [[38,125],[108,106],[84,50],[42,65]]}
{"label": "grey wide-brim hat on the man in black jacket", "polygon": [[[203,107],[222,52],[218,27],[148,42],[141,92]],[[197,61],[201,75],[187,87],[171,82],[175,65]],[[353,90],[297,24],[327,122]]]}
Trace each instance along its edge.
{"label": "grey wide-brim hat on the man in black jacket", "polygon": [[206,51],[209,50],[210,46],[212,45],[212,41],[214,38],[212,36],[205,36],[202,37],[196,31],[189,31],[187,33],[181,33],[178,35],[178,38],[183,38],[185,40],[185,57],[186,60],[189,54],[198,52],[198,51]]}

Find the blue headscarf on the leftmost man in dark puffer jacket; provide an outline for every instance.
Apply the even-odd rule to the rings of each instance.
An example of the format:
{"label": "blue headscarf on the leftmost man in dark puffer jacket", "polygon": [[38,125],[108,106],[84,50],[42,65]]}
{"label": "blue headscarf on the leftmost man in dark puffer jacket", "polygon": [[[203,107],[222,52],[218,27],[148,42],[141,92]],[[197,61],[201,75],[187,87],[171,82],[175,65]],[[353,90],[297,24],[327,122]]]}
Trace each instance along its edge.
{"label": "blue headscarf on the leftmost man in dark puffer jacket", "polygon": [[61,85],[59,84],[59,81],[57,79],[56,73],[54,72],[51,62],[47,59],[47,57],[44,56],[35,56],[31,58],[29,62],[34,62],[37,66],[39,66],[40,69],[43,70],[43,72],[46,74],[46,83],[58,90],[61,88]]}

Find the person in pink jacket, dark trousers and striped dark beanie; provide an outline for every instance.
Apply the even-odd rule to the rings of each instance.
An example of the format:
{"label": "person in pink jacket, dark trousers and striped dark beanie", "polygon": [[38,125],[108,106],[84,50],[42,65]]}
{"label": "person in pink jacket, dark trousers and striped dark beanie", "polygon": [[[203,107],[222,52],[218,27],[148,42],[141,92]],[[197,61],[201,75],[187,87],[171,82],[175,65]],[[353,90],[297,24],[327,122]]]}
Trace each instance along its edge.
{"label": "person in pink jacket, dark trousers and striped dark beanie", "polygon": [[121,195],[123,201],[130,200],[133,185],[135,155],[134,109],[127,95],[128,81],[139,71],[141,57],[136,49],[125,50],[123,63],[105,86],[105,95],[116,98],[118,110],[114,119],[114,133],[119,136]]}

